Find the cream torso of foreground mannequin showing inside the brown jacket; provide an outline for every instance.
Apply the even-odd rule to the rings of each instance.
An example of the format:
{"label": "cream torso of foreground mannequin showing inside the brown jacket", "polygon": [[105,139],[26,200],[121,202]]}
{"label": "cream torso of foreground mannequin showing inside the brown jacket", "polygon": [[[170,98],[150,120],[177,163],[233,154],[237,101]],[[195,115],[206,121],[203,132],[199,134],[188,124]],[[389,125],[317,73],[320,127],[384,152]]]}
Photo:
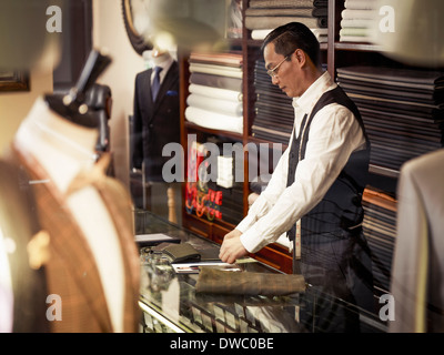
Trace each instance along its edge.
{"label": "cream torso of foreground mannequin showing inside the brown jacket", "polygon": [[[26,155],[33,155],[48,172],[58,193],[65,196],[73,179],[92,169],[98,132],[74,125],[48,110],[42,99],[21,124],[14,143]],[[123,273],[117,232],[109,213],[93,187],[65,197],[92,250],[117,332],[122,331]],[[110,262],[111,261],[111,262]],[[115,310],[115,311],[114,311]]]}

